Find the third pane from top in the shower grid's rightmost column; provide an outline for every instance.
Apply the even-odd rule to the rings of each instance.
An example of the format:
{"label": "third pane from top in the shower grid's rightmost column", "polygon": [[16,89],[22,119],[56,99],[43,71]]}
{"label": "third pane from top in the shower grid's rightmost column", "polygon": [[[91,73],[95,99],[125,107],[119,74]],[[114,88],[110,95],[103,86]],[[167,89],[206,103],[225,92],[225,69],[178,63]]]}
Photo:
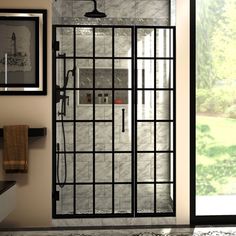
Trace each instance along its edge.
{"label": "third pane from top in the shower grid's rightmost column", "polygon": [[[157,120],[170,120],[173,119],[173,101],[171,99],[173,93],[170,91],[156,91],[156,119]],[[171,106],[170,106],[171,99]]]}

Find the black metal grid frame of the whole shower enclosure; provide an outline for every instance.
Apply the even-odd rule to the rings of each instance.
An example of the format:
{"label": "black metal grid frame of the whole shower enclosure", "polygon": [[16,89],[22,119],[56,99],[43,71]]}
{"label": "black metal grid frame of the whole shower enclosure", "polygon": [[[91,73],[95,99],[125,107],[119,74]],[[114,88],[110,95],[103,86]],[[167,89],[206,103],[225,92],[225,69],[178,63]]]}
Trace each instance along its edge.
{"label": "black metal grid frame of the whole shower enclosure", "polygon": [[[70,57],[60,57],[57,55],[57,51],[59,50],[59,42],[57,41],[57,35],[56,35],[56,30],[58,28],[72,28],[73,29],[73,56]],[[93,56],[92,57],[77,57],[76,55],[76,29],[77,28],[90,28],[92,29],[93,32]],[[109,28],[112,30],[112,57],[96,57],[95,55],[95,30],[96,28],[103,29],[103,28]],[[130,57],[115,57],[115,29],[116,28],[128,28],[131,30],[132,34],[132,53]],[[138,57],[137,55],[137,31],[138,29],[153,29],[154,30],[154,56],[151,58],[145,58],[145,57]],[[170,31],[173,32],[173,56],[171,57],[157,57],[156,55],[156,30],[157,29],[169,29]],[[171,43],[171,42],[170,42]],[[56,202],[58,200],[58,192],[57,192],[57,179],[56,179],[56,124],[57,124],[57,115],[56,115],[56,72],[57,72],[57,65],[56,65],[56,60],[57,59],[71,59],[73,60],[73,65],[74,68],[76,66],[76,60],[77,59],[92,59],[93,60],[93,88],[76,88],[76,73],[74,74],[74,87],[67,89],[68,91],[74,91],[73,95],[73,102],[76,104],[76,90],[91,90],[93,92],[93,119],[91,121],[88,120],[79,120],[79,122],[91,122],[93,124],[93,151],[89,152],[76,152],[76,111],[75,111],[75,105],[74,105],[74,117],[72,121],[66,121],[66,122],[71,122],[73,123],[73,137],[74,137],[74,151],[73,152],[68,152],[73,155],[73,160],[74,160],[74,173],[76,172],[76,153],[91,153],[93,154],[93,213],[92,214],[76,214],[76,186],[79,184],[88,184],[88,183],[76,183],[76,176],[74,174],[74,179],[73,183],[66,183],[65,185],[73,185],[73,213],[72,214],[58,214],[56,211]],[[112,60],[112,88],[96,88],[95,87],[95,62],[96,59],[110,59]],[[115,73],[115,60],[116,59],[124,59],[124,60],[131,60],[132,61],[132,88],[115,88],[114,87],[114,73]],[[154,62],[154,87],[153,88],[147,88],[145,90],[140,89],[137,87],[136,79],[137,78],[137,61],[139,59],[142,60],[153,60]],[[158,60],[168,60],[170,63],[173,63],[173,87],[169,88],[157,88],[156,87],[156,62]],[[52,213],[53,213],[53,218],[94,218],[94,217],[153,217],[153,216],[175,216],[175,209],[176,209],[176,203],[175,203],[175,113],[176,113],[176,107],[175,107],[175,61],[176,61],[176,55],[175,55],[175,27],[172,26],[124,26],[124,25],[117,25],[117,26],[111,26],[111,25],[54,25],[53,26],[53,58],[52,58],[52,63],[53,63],[53,183],[52,183]],[[104,120],[96,120],[95,117],[95,92],[96,90],[112,90],[112,120],[107,120],[105,122],[112,122],[112,151],[111,152],[106,152],[106,151],[95,151],[95,123],[96,122],[104,122]],[[131,151],[115,151],[114,148],[114,110],[115,110],[115,105],[114,105],[114,97],[115,97],[115,91],[116,90],[126,90],[132,92],[132,133],[133,137],[132,138],[132,150]],[[142,120],[137,119],[137,92],[139,90],[143,91],[154,91],[154,120],[149,120],[145,122],[152,122],[154,124],[154,151],[137,151],[137,124],[138,122],[141,122]],[[173,96],[173,107],[172,107],[172,112],[173,112],[173,119],[169,118],[168,120],[158,120],[156,117],[156,91],[169,91],[169,94],[172,93]],[[171,108],[170,108],[171,110]],[[168,122],[169,125],[172,124],[173,127],[173,135],[169,135],[170,137],[170,142],[171,140],[173,141],[173,150],[164,150],[160,151],[157,150],[156,148],[156,124],[158,122]],[[169,126],[170,127],[170,126]],[[170,131],[171,132],[171,131]],[[63,152],[60,152],[63,153]],[[95,185],[99,184],[96,183],[95,179],[95,154],[96,153],[111,153],[112,154],[112,182],[104,182],[100,184],[110,184],[112,185],[112,213],[105,213],[105,214],[97,214],[95,211]],[[132,179],[131,183],[129,182],[124,182],[122,184],[131,184],[132,186],[132,192],[131,192],[131,212],[130,213],[115,213],[115,207],[114,207],[114,188],[115,188],[115,179],[114,179],[114,154],[115,153],[130,153],[132,155],[131,160],[132,160],[132,165],[131,165],[131,172],[132,172]],[[169,153],[172,154],[173,156],[173,180],[172,181],[162,181],[158,182],[156,179],[156,174],[154,176],[154,181],[153,182],[138,182],[137,181],[137,155],[138,153],[154,153],[154,171],[156,171],[156,158],[157,158],[157,153]],[[137,185],[138,184],[152,184],[154,186],[154,211],[153,213],[138,213],[137,212]],[[156,185],[157,184],[170,184],[173,186],[173,211],[172,212],[157,212],[156,210]]]}

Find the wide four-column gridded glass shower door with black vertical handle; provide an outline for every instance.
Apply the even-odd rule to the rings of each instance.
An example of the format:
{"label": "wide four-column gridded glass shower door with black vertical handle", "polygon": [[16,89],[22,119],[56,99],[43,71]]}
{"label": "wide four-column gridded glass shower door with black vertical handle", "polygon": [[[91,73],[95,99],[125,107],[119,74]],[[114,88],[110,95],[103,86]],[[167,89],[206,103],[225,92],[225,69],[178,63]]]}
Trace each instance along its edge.
{"label": "wide four-column gridded glass shower door with black vertical handle", "polygon": [[[75,26],[57,30],[60,49],[56,61],[62,64],[57,67],[57,85],[61,93],[65,89],[70,104],[65,104],[67,114],[57,117],[57,143],[64,146],[63,124],[66,150],[56,152],[57,162],[62,162],[57,170],[56,213],[68,217],[130,216],[133,29]],[[69,68],[74,74],[65,87]]]}

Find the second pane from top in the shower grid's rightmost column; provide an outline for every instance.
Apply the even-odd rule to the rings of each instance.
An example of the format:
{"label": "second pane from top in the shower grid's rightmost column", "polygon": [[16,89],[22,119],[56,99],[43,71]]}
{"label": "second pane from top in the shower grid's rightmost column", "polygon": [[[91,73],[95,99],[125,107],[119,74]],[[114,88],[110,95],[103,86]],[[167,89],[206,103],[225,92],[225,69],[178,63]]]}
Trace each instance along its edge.
{"label": "second pane from top in the shower grid's rightmost column", "polygon": [[173,88],[173,60],[156,61],[156,87]]}

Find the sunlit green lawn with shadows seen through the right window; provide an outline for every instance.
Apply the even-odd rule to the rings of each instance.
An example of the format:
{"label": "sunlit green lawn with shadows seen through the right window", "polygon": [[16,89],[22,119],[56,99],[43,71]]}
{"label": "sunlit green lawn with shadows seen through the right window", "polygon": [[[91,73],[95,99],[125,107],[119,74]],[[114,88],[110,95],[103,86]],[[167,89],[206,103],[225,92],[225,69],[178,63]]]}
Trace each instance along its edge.
{"label": "sunlit green lawn with shadows seen through the right window", "polygon": [[236,119],[197,116],[197,195],[236,194]]}

